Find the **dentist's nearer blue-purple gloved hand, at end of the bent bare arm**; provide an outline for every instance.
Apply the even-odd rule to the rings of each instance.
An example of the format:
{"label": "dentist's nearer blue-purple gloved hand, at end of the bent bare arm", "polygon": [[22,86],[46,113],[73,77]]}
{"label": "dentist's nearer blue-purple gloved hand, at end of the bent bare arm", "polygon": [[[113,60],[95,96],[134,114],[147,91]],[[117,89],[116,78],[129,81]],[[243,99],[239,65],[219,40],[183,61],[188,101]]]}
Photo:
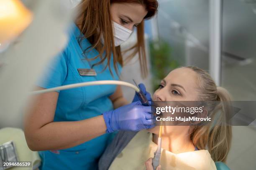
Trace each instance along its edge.
{"label": "dentist's nearer blue-purple gloved hand, at end of the bent bare arm", "polygon": [[151,119],[151,106],[142,106],[139,101],[105,112],[103,117],[107,133],[117,130],[140,131],[155,126]]}

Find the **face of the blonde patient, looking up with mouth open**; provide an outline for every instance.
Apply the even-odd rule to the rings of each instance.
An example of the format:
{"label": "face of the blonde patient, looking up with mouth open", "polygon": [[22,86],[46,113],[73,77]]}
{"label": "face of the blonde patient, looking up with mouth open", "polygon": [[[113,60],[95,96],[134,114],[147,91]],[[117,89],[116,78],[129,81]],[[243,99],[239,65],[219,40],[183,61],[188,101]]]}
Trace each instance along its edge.
{"label": "face of the blonde patient, looking up with mouth open", "polygon": [[[197,74],[189,68],[178,68],[170,72],[160,83],[159,89],[155,91],[152,99],[154,101],[196,101]],[[179,128],[179,130],[177,130]],[[186,126],[165,126],[162,135],[172,132],[179,132]],[[149,130],[151,133],[158,134],[159,126]]]}

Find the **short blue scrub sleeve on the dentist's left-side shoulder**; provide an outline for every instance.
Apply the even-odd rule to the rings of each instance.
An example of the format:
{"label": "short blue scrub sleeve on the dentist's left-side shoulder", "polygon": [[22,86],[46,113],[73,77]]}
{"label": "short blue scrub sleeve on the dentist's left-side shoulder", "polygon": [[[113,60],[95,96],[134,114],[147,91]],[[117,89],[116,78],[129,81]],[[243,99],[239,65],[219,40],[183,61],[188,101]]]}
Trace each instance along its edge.
{"label": "short blue scrub sleeve on the dentist's left-side shoulder", "polygon": [[[59,55],[53,58],[48,65],[46,65],[43,76],[36,83],[42,88],[53,88],[63,85],[67,76],[67,52],[64,50]],[[59,90],[57,90],[59,92]]]}

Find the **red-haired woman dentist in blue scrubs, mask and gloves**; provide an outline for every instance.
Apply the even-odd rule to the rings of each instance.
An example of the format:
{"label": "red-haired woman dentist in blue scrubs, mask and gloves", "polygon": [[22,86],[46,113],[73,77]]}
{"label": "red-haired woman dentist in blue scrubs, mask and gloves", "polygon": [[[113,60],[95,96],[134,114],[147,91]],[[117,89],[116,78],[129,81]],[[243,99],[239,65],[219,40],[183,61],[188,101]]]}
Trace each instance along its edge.
{"label": "red-haired woman dentist in blue scrubs, mask and gloves", "polygon": [[[69,42],[45,68],[37,90],[98,80],[119,80],[120,44],[137,28],[141,70],[146,75],[143,20],[156,13],[156,0],[83,0],[70,25]],[[50,43],[50,42],[49,42]],[[131,56],[133,57],[133,56]],[[144,94],[150,94],[141,85]],[[152,128],[151,108],[135,95],[124,99],[120,86],[95,85],[37,95],[28,106],[25,136],[39,151],[41,170],[94,170],[118,130]]]}

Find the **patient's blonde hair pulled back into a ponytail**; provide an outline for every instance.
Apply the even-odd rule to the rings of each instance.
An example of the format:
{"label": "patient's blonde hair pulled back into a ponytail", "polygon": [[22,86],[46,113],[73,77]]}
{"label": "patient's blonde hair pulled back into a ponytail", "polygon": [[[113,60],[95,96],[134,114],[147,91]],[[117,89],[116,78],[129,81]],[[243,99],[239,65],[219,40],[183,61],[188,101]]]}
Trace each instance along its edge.
{"label": "patient's blonde hair pulled back into a ponytail", "polygon": [[223,87],[217,87],[212,77],[204,70],[198,67],[186,67],[197,73],[200,101],[220,101],[220,104],[212,105],[213,110],[210,117],[211,123],[192,127],[191,140],[200,150],[207,149],[212,160],[225,162],[230,150],[232,131],[231,126],[225,122],[229,116],[230,95]]}

